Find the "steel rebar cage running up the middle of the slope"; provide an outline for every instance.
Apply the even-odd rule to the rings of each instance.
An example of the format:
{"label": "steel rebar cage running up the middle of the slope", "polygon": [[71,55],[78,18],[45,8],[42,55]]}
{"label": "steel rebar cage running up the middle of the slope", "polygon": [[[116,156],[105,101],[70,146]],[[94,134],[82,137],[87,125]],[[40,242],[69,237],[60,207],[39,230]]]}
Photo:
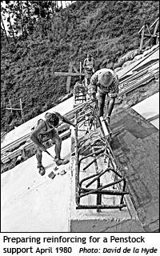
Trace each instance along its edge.
{"label": "steel rebar cage running up the middle of the slope", "polygon": [[126,179],[110,147],[110,127],[102,121],[93,102],[86,102],[75,113],[76,209],[121,210],[126,206]]}

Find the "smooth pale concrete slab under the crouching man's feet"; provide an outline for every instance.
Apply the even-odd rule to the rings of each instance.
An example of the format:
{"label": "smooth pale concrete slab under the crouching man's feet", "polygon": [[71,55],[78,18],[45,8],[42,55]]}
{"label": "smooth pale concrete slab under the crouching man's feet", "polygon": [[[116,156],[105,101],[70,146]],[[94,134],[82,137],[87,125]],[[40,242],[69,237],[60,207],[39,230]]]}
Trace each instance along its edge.
{"label": "smooth pale concrete slab under the crouching man's feet", "polygon": [[[54,146],[49,149],[54,155]],[[70,159],[70,138],[62,142],[62,157]],[[46,174],[40,176],[35,156],[1,174],[2,232],[66,232],[70,200],[70,163],[58,166],[65,175],[50,179],[55,163],[43,153]],[[58,173],[57,171],[57,173]]]}

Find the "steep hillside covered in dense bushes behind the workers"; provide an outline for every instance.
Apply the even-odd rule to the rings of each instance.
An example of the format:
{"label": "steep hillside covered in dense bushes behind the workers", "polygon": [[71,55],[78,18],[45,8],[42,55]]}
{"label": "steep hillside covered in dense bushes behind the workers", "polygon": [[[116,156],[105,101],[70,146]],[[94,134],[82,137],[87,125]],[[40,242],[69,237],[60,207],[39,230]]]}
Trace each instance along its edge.
{"label": "steep hillside covered in dense bushes behind the workers", "polygon": [[88,51],[97,68],[116,68],[119,57],[138,48],[138,30],[158,12],[158,1],[77,1],[50,20],[45,38],[35,30],[26,41],[3,44],[2,130],[22,123],[17,111],[6,110],[9,98],[14,107],[22,98],[25,121],[50,109],[66,94],[66,78],[54,77],[54,71],[67,71],[70,61],[78,67]]}

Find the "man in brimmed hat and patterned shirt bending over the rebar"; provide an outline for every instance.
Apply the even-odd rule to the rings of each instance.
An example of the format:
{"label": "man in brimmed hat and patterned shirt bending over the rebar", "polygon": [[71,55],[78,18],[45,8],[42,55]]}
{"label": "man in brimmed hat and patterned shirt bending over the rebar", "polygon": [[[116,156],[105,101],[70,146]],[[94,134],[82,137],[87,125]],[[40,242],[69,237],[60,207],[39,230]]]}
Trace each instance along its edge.
{"label": "man in brimmed hat and patterned shirt bending over the rebar", "polygon": [[98,115],[104,117],[104,106],[107,97],[106,121],[110,123],[110,115],[114,108],[115,98],[118,96],[118,76],[110,69],[101,69],[96,71],[90,79],[90,98],[96,101],[98,92]]}

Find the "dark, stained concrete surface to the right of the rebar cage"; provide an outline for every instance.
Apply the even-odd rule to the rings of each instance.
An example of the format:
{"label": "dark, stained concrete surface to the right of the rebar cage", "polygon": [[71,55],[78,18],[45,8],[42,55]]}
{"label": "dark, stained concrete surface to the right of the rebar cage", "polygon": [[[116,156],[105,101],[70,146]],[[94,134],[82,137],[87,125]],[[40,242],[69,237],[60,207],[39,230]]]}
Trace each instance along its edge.
{"label": "dark, stained concrete surface to the right of the rebar cage", "polygon": [[146,232],[159,230],[159,131],[133,109],[110,123],[112,148],[122,166],[127,189]]}

